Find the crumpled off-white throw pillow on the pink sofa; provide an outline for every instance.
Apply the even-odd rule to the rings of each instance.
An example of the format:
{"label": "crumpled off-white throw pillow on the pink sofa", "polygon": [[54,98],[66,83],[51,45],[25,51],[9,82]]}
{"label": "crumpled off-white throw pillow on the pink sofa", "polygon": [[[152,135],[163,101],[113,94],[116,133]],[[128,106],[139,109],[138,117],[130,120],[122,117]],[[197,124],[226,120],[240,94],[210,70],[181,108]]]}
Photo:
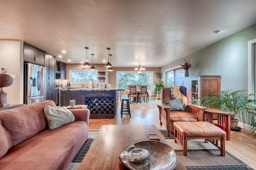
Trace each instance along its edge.
{"label": "crumpled off-white throw pillow on the pink sofa", "polygon": [[44,115],[48,121],[49,129],[60,127],[66,123],[74,122],[73,113],[65,106],[59,109],[46,105],[44,107]]}

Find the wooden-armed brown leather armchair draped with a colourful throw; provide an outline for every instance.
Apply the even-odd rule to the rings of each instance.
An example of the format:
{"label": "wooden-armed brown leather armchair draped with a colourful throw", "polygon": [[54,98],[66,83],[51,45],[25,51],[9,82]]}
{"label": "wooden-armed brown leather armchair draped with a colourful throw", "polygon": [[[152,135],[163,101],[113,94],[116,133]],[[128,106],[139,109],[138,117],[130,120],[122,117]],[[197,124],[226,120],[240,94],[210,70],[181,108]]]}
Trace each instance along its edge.
{"label": "wooden-armed brown leather armchair draped with a colourful throw", "polygon": [[[161,100],[171,100],[170,87],[161,89]],[[170,136],[170,130],[174,130],[173,123],[176,121],[203,121],[205,107],[198,105],[187,105],[187,111],[170,111],[167,105],[157,105],[159,109],[160,125],[164,125],[167,129],[167,136]]]}

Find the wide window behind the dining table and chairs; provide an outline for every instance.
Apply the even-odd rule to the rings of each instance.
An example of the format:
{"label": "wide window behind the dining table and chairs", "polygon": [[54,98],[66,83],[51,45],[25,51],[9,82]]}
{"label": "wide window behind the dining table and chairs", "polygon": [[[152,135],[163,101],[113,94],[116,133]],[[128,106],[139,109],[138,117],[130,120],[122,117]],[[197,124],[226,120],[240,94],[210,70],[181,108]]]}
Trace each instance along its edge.
{"label": "wide window behind the dining table and chairs", "polygon": [[128,85],[147,85],[148,90],[153,87],[154,71],[145,71],[144,73],[134,73],[134,71],[117,71],[117,87],[127,88]]}

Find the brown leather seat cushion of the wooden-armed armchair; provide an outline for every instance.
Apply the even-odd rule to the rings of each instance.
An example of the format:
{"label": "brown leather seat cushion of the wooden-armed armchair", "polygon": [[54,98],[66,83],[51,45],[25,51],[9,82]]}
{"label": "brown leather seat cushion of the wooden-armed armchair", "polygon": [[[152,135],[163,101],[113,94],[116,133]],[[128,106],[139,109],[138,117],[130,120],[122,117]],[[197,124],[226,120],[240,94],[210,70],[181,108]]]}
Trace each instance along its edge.
{"label": "brown leather seat cushion of the wooden-armed armchair", "polygon": [[184,111],[172,111],[170,112],[171,122],[195,122],[198,121],[197,117]]}

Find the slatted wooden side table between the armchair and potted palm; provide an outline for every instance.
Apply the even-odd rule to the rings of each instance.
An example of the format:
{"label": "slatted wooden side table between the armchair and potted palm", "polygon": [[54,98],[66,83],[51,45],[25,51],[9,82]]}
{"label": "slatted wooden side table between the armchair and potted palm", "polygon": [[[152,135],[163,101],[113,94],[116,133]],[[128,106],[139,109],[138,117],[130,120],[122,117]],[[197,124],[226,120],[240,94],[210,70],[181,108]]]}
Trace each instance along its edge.
{"label": "slatted wooden side table between the armchair and potted palm", "polygon": [[213,123],[212,115],[216,114],[217,115],[217,124],[215,125],[222,130],[226,132],[226,139],[230,140],[230,115],[233,115],[234,113],[231,112],[224,112],[219,109],[215,109],[212,107],[208,107],[204,111],[204,118],[203,121],[208,121],[210,123]]}

